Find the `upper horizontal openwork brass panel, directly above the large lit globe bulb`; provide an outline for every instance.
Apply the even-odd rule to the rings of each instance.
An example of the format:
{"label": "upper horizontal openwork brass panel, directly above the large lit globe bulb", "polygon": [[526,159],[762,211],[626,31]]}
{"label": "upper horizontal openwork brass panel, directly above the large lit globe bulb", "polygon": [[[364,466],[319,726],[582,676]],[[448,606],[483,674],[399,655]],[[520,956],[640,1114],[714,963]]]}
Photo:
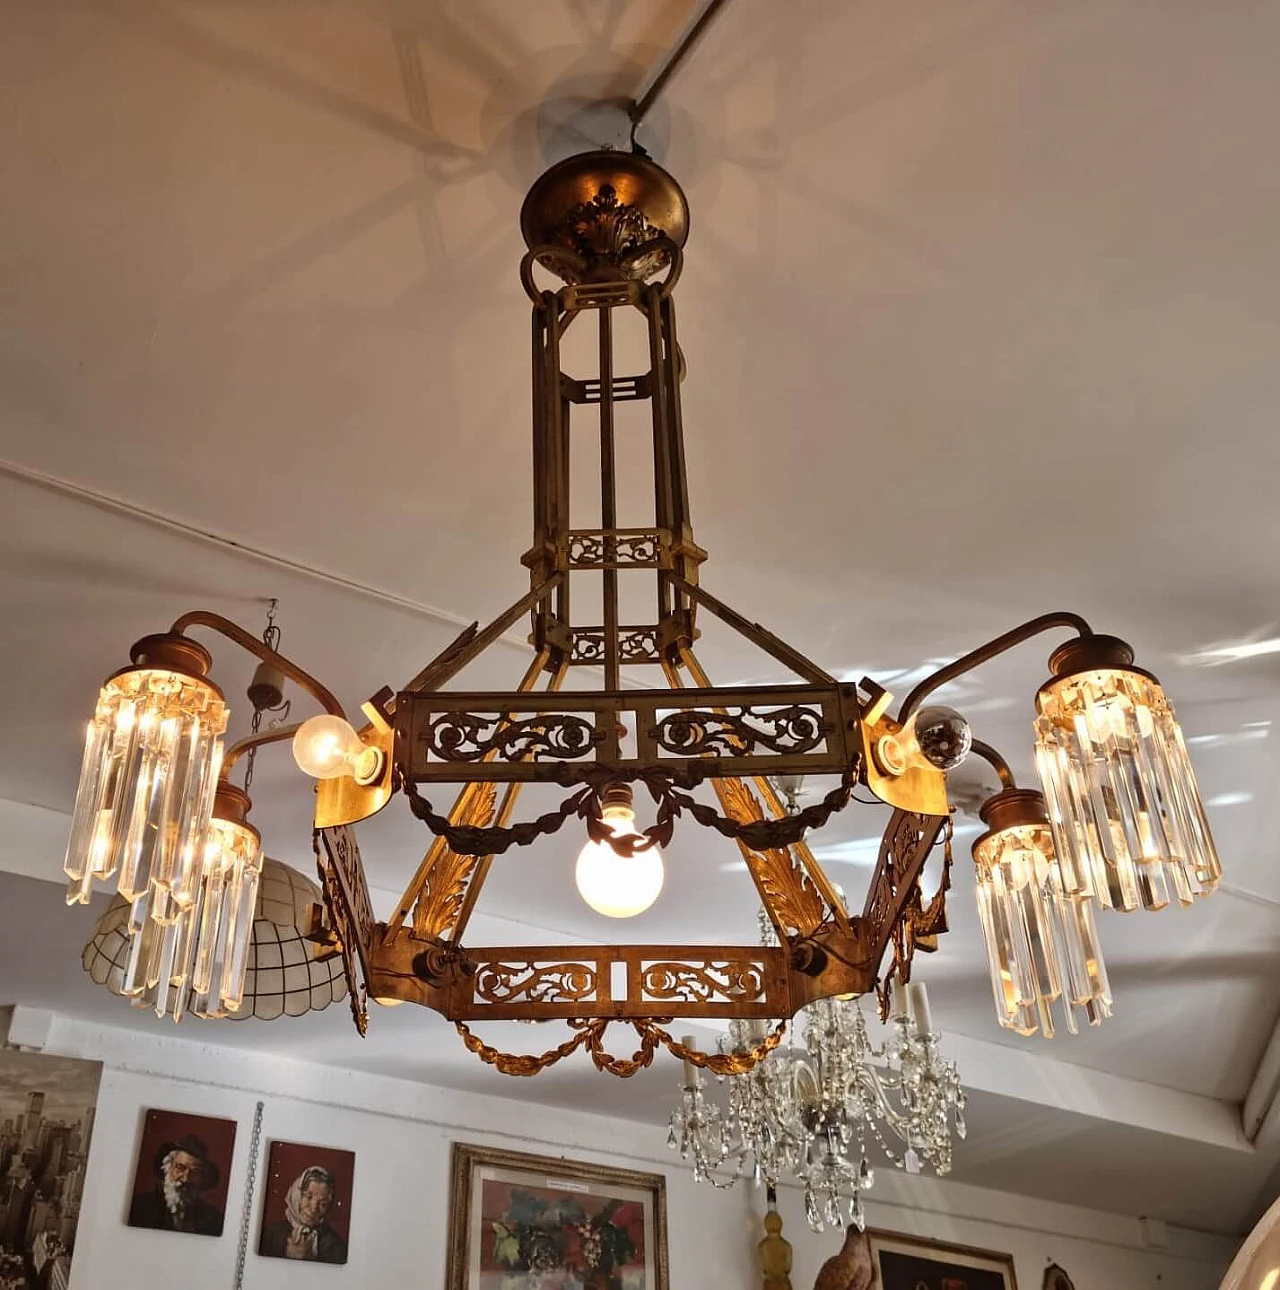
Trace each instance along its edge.
{"label": "upper horizontal openwork brass panel, directly above the large lit globe bulb", "polygon": [[[715,707],[712,707],[715,704]],[[573,766],[743,775],[843,775],[857,699],[839,685],[422,694],[396,700],[396,764],[413,783],[556,780]],[[619,737],[634,739],[634,752]],[[495,753],[493,760],[484,759]],[[466,766],[465,774],[459,769]]]}

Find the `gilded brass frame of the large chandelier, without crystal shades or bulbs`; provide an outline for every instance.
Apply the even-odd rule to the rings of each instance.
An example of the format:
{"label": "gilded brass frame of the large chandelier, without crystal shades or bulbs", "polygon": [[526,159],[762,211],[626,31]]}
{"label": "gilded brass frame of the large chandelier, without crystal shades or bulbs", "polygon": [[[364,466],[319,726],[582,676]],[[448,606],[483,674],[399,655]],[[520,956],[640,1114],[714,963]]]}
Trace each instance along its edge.
{"label": "gilded brass frame of the large chandelier, without crystal shades or bulbs", "polygon": [[[699,583],[706,552],[693,537],[684,461],[684,357],[672,299],[688,227],[683,195],[644,159],[587,154],[534,186],[521,222],[530,244],[521,281],[533,304],[533,542],[523,556],[529,591],[483,630],[472,623],[399,691],[383,689],[364,704],[361,737],[386,753],[385,769],[373,784],[345,778],[317,786],[316,855],[329,915],[317,939],[328,952],[343,953],[361,1033],[372,996],[436,1010],[484,1060],[515,1075],[535,1073],[577,1047],[601,1069],[630,1075],[659,1044],[716,1071],[746,1069],[778,1042],[781,1028],[747,1053],[708,1055],[690,1053],[663,1023],[787,1019],[814,1000],[877,988],[883,1002],[889,978],[906,980],[915,949],[934,948],[946,930],[950,845],[938,891],[926,902],[920,890],[925,860],[939,840],[950,840],[945,777],[920,759],[898,773],[886,769],[876,753],[880,740],[901,733],[924,695],[955,675],[1036,632],[1074,627],[1088,635],[1089,628],[1072,614],[1035,619],[923,682],[893,719],[892,697],[879,686],[837,681],[717,600]],[[563,285],[538,286],[539,267]],[[643,317],[643,372],[615,372],[619,311]],[[596,374],[573,377],[564,370],[563,342],[588,317],[596,321]],[[630,526],[618,515],[617,410],[625,402],[649,405],[654,481],[653,513]],[[591,432],[599,524],[583,528],[570,517],[570,441]],[[622,623],[623,575],[650,579],[649,622]],[[574,617],[570,591],[582,578],[599,579],[599,623]],[[699,613],[794,680],[714,685],[694,653]],[[444,689],[525,615],[533,654],[516,689]],[[191,626],[213,627],[259,658],[270,654],[326,711],[341,713],[324,686],[235,624],[197,611],[174,624],[173,640],[183,640]],[[640,664],[661,666],[666,688],[623,685],[623,668]],[[587,667],[600,673],[599,686],[565,689],[569,675]],[[545,689],[535,689],[542,680]],[[786,819],[770,780],[782,774],[840,777],[894,808],[861,912],[845,908],[799,829],[786,832],[796,822]],[[529,826],[521,832],[512,819],[521,786],[532,782],[577,787],[590,827],[592,793],[610,778],[640,778],[650,787],[710,783],[719,804],[711,822],[737,838],[775,947],[465,943],[494,855],[455,850],[453,842],[528,841]],[[462,786],[448,819],[435,817],[444,831],[431,840],[391,918],[378,922],[351,826],[397,791],[440,783]],[[759,827],[768,820],[782,823]],[[539,1057],[498,1053],[468,1028],[475,1020],[552,1018],[568,1020],[574,1037]],[[635,1027],[640,1046],[632,1058],[604,1051],[610,1022]]]}

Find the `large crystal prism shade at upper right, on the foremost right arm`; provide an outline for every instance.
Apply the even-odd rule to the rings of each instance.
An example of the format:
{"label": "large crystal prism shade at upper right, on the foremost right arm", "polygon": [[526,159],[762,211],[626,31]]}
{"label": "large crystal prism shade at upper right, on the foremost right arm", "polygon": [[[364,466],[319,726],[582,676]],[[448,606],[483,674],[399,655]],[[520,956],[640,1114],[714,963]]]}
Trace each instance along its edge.
{"label": "large crystal prism shade at upper right, on the foremost right arm", "polygon": [[1066,891],[1123,911],[1213,891],[1222,867],[1160,686],[1101,668],[1050,681],[1036,707],[1036,769]]}

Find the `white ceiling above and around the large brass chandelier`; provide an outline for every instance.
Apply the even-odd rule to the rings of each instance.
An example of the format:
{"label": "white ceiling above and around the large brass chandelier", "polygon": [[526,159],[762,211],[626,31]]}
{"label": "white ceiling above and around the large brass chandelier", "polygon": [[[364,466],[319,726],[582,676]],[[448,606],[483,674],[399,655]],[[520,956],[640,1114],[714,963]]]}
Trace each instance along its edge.
{"label": "white ceiling above and around the large brass chandelier", "polygon": [[[286,650],[355,706],[523,592],[519,203],[547,156],[597,142],[556,123],[632,93],[690,8],[9,6],[0,799],[67,809],[95,686],[185,609],[254,626],[280,597]],[[899,688],[1045,609],[1134,641],[1196,740],[1227,888],[1105,917],[1116,1019],[1039,1051],[1227,1102],[1277,1002],[1280,728],[1259,722],[1280,721],[1280,658],[1199,655],[1280,633],[1277,37],[1280,9],[1245,0],[734,0],[649,133],[693,210],[679,303],[706,584],[830,668]],[[1021,773],[1045,651],[952,695]],[[237,695],[248,666],[217,659]],[[768,675],[711,631],[703,659],[719,680]],[[521,668],[499,644],[468,680]],[[255,818],[305,868],[310,799],[286,762],[263,755]],[[850,893],[877,826],[854,809],[821,840]],[[924,971],[947,1031],[1012,1042],[966,845]],[[395,808],[363,833],[386,891],[422,846]],[[615,935],[565,854],[497,866],[486,911]],[[750,938],[733,864],[677,838],[636,937]],[[71,968],[39,1002],[90,1006]],[[415,1013],[379,1015],[396,1041],[341,1060],[483,1084],[443,1058],[404,1064],[435,1024]],[[325,1029],[253,1042],[295,1032],[315,1051],[303,1036],[329,1044],[337,1023],[312,1020]],[[543,1080],[550,1100],[621,1104],[594,1073]],[[640,1115],[665,1100],[628,1096]],[[1132,1152],[1089,1133],[1083,1167]],[[1014,1155],[972,1169],[1035,1189]],[[1261,1182],[1234,1176],[1208,1209],[1163,1211],[1231,1231]]]}

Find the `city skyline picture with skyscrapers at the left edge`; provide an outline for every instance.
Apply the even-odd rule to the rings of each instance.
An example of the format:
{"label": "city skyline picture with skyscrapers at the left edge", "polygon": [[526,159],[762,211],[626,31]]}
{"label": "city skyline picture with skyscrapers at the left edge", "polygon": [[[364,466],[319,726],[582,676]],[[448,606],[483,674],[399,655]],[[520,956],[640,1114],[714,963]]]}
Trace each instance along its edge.
{"label": "city skyline picture with skyscrapers at the left edge", "polygon": [[0,1050],[0,1286],[66,1285],[98,1062]]}

